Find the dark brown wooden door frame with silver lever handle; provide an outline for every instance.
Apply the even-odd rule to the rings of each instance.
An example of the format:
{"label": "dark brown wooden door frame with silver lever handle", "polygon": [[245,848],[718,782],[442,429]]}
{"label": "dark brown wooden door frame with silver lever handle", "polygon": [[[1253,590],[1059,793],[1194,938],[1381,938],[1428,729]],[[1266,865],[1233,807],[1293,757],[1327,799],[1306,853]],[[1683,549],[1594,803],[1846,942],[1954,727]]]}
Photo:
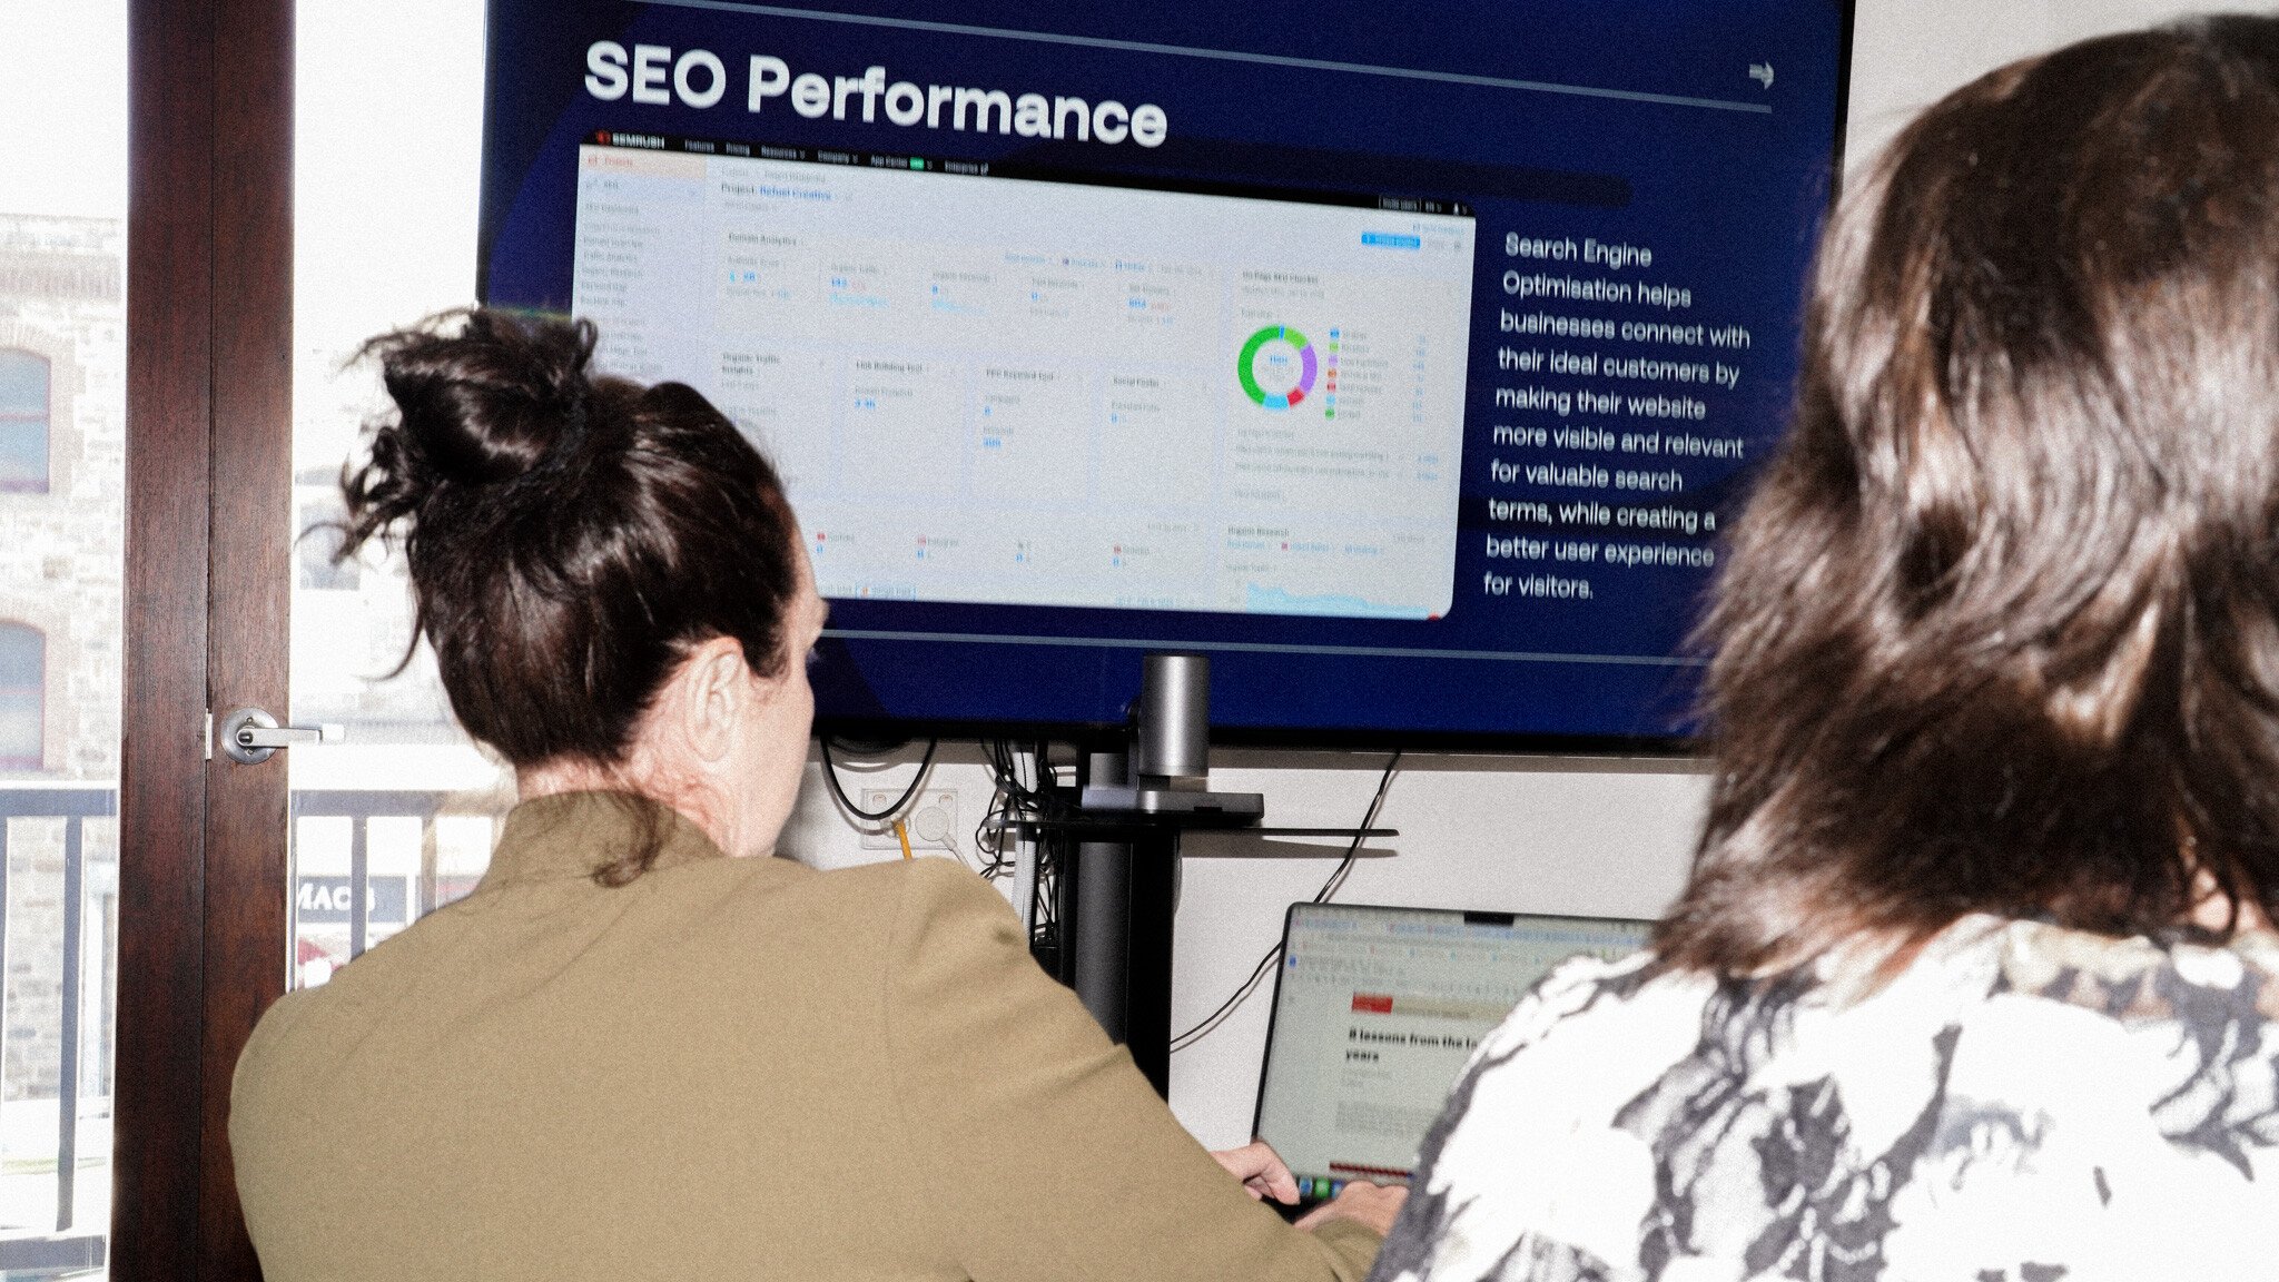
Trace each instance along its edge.
{"label": "dark brown wooden door frame with silver lever handle", "polygon": [[230,1070],[285,990],[294,0],[130,0],[116,1282],[258,1277]]}

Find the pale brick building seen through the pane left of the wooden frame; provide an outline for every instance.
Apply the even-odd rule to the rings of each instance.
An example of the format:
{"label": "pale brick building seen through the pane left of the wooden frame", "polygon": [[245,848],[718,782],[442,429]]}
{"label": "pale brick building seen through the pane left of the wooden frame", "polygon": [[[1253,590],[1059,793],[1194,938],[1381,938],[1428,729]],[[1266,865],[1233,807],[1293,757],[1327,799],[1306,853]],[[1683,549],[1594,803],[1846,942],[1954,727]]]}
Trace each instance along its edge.
{"label": "pale brick building seen through the pane left of the wooden frame", "polygon": [[[119,778],[123,281],[116,219],[0,214],[0,789],[32,798]],[[0,1100],[52,1097],[66,821],[7,828]],[[80,1084],[107,1093],[116,826],[87,821],[82,842]]]}

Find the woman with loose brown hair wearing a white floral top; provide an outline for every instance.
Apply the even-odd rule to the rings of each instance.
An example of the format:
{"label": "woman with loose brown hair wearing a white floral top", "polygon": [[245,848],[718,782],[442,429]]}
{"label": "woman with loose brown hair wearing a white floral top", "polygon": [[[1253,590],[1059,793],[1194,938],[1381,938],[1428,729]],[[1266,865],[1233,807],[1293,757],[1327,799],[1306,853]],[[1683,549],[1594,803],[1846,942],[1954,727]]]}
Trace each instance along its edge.
{"label": "woman with loose brown hair wearing a white floral top", "polygon": [[1894,141],[1707,641],[1691,885],[1479,1047],[1374,1277],[2279,1275],[2279,21]]}

